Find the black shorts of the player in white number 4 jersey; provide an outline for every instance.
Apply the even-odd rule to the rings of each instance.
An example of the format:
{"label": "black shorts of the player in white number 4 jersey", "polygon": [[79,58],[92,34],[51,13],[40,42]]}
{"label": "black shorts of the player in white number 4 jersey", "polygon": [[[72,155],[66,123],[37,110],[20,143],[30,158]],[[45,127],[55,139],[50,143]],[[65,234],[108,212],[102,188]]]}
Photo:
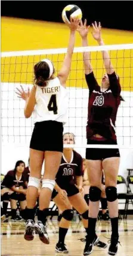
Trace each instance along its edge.
{"label": "black shorts of the player in white number 4 jersey", "polygon": [[63,152],[63,123],[36,122],[30,140],[30,149]]}

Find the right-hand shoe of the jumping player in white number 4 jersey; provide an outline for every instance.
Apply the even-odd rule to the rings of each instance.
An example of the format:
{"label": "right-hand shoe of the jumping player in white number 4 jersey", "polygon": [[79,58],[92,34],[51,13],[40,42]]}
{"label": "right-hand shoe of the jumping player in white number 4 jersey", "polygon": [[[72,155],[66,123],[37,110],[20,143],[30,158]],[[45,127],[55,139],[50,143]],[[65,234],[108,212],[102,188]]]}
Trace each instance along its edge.
{"label": "right-hand shoe of the jumping player in white number 4 jersey", "polygon": [[42,224],[41,221],[38,221],[34,224],[34,229],[37,234],[39,234],[39,239],[42,243],[47,243],[49,245],[50,239],[47,234],[47,226]]}

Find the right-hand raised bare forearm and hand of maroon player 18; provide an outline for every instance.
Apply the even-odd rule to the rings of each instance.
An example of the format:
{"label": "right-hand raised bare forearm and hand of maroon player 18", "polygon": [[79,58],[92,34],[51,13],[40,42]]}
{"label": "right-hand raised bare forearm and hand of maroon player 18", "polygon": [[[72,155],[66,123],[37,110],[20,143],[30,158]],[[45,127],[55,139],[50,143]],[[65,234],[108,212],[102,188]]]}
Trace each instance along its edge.
{"label": "right-hand raised bare forearm and hand of maroon player 18", "polygon": [[[101,37],[101,24],[100,24],[100,22],[98,23],[98,25],[97,25],[97,22],[92,23],[92,27],[93,27],[92,36],[97,41],[99,46],[104,46],[104,41]],[[102,51],[101,53],[102,53],[102,56],[103,56],[104,66],[106,68],[107,74],[112,74],[114,72],[114,69],[113,69],[113,66],[112,66],[112,62],[110,60],[109,53],[106,50]]]}

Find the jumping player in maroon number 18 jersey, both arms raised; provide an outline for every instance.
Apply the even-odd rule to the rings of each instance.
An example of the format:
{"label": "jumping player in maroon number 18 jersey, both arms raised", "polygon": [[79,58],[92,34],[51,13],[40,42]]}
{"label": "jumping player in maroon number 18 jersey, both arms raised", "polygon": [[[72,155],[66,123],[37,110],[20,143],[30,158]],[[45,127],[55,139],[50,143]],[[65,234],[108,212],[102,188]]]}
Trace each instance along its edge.
{"label": "jumping player in maroon number 18 jersey, both arms raised", "polygon": [[[104,46],[101,38],[101,25],[97,22],[92,24],[92,37],[100,46]],[[79,34],[82,37],[82,46],[88,46],[87,35],[89,26],[80,24]],[[83,63],[85,68],[85,79],[89,88],[88,98],[88,121],[86,126],[87,144],[117,144],[115,121],[117,109],[120,101],[119,77],[112,66],[109,53],[104,50],[103,56],[104,74],[101,86],[98,85],[91,67],[91,56],[89,52],[83,53]],[[109,246],[109,255],[116,255],[117,244],[119,242],[118,233],[118,203],[117,203],[117,173],[119,170],[120,154],[119,149],[86,149],[86,159],[88,159],[89,173],[89,236],[86,239],[84,255],[92,252],[93,240],[95,237],[95,224],[99,212],[99,202],[101,197],[101,175],[104,170],[106,178],[106,196],[109,214],[112,224],[112,236]]]}

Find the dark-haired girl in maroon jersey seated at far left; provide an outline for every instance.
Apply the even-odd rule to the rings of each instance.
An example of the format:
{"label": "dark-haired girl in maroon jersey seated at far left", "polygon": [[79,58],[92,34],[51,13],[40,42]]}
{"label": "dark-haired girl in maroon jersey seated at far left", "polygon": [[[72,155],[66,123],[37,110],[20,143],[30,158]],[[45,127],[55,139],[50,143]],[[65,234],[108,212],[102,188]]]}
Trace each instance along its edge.
{"label": "dark-haired girl in maroon jersey seated at far left", "polygon": [[26,208],[26,179],[23,175],[25,163],[21,160],[16,162],[14,170],[8,171],[1,186],[1,199],[10,200],[11,220],[20,221],[16,215],[17,201],[20,203],[21,216],[24,218],[24,209]]}

